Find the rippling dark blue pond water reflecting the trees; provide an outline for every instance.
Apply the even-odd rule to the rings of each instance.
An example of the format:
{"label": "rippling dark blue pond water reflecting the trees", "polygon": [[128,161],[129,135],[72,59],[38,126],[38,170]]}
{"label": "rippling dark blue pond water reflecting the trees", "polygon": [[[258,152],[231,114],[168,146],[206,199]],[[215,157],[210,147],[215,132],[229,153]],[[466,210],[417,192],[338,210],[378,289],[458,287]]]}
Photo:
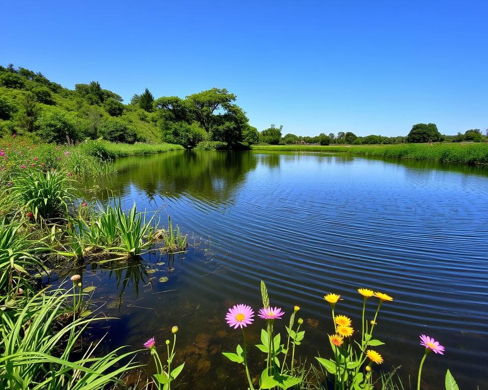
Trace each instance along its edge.
{"label": "rippling dark blue pond water reflecting the trees", "polygon": [[[380,310],[375,333],[386,345],[375,349],[384,369],[402,366],[406,388],[423,355],[420,334],[446,348],[428,356],[425,388],[443,388],[447,368],[461,388],[488,386],[486,169],[251,151],[170,152],[114,164],[118,174],[88,180],[83,197],[104,202],[109,188],[125,208],[135,202],[157,210],[164,224],[169,213],[192,247],[173,258],[150,254],[78,270],[84,285],[98,286],[103,312],[120,318],[93,330],[108,332],[105,348],[140,348],[151,336],[163,347],[176,325],[177,359],[187,362],[180,388],[243,389],[243,372],[221,354],[241,338],[224,317],[234,304],[261,307],[261,279],[286,322],[301,307],[306,335],[297,352],[309,362],[330,354],[333,324],[323,296],[340,294],[336,314],[360,329],[356,289],[368,287],[394,299]],[[282,334],[285,321],[277,321]],[[252,345],[261,327],[256,318],[246,330],[256,374],[262,355]],[[147,352],[139,359],[150,362]]]}

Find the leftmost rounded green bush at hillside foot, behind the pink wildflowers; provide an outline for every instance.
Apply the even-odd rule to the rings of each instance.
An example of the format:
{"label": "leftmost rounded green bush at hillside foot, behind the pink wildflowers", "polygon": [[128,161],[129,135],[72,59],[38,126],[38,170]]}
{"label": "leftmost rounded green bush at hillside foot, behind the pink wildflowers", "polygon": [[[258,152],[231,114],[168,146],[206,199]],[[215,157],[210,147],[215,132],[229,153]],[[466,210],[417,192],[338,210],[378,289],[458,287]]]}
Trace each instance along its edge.
{"label": "leftmost rounded green bush at hillside foot, behind the pink wildflowers", "polygon": [[46,107],[37,120],[37,134],[47,142],[64,143],[67,139],[76,140],[73,120],[58,107]]}

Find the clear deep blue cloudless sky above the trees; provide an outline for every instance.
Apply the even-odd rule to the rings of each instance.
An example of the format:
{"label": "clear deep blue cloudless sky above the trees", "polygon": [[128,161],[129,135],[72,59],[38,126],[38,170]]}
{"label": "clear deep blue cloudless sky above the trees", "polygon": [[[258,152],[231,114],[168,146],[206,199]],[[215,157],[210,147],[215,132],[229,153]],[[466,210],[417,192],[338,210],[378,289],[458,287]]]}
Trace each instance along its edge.
{"label": "clear deep blue cloudless sky above the trees", "polygon": [[123,96],[227,88],[261,131],[488,127],[488,1],[0,1],[0,63]]}

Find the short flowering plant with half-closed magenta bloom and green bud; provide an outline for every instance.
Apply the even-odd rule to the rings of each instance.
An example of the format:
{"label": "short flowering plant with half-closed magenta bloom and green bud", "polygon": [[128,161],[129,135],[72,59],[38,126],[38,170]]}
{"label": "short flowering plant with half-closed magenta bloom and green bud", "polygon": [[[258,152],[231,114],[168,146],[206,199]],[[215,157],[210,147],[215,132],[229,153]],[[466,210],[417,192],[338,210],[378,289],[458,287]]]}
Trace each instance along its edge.
{"label": "short flowering plant with half-closed magenta bloom and green bud", "polygon": [[171,390],[171,382],[173,382],[178,375],[183,371],[185,367],[185,362],[180,364],[178,367],[171,369],[171,364],[173,363],[173,359],[175,356],[175,346],[176,346],[176,333],[178,333],[178,327],[173,327],[171,329],[171,333],[173,334],[173,345],[171,347],[171,352],[169,350],[171,342],[166,340],[166,351],[168,354],[168,359],[166,362],[168,365],[163,366],[161,363],[161,359],[159,353],[156,349],[156,340],[154,337],[151,337],[144,343],[144,348],[148,348],[151,351],[151,356],[153,356],[154,362],[156,364],[156,371],[157,374],[153,375],[154,383],[158,390]]}

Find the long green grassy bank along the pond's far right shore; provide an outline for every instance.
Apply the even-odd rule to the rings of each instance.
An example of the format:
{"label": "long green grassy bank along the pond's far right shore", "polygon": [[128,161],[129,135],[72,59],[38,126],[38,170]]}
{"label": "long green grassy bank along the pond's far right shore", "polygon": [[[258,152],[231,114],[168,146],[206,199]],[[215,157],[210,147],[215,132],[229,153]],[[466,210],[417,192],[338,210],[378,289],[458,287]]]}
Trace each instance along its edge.
{"label": "long green grassy bank along the pond's far right shore", "polygon": [[432,160],[456,164],[488,164],[488,144],[401,144],[368,146],[253,145],[253,150],[346,152],[357,155]]}

